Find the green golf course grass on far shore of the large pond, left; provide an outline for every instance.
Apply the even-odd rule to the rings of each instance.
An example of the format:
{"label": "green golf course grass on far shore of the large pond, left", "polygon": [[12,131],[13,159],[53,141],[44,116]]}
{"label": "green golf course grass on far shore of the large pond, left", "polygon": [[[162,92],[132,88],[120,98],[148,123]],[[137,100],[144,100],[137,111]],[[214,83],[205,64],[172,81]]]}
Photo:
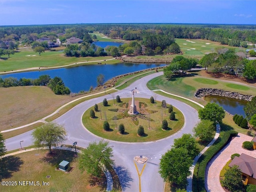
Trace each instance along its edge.
{"label": "green golf course grass on far shore of the large pond, left", "polygon": [[[2,57],[3,58],[3,57]],[[108,60],[113,58],[112,56],[106,57],[66,57],[63,52],[46,51],[38,53],[33,51],[22,51],[11,55],[10,58],[6,60],[0,60],[0,72],[12,71],[18,69],[27,69],[32,67],[56,67],[64,66],[68,64],[73,64],[76,62],[86,62],[86,61],[97,61],[97,60]],[[119,60],[113,60],[112,63],[119,62]],[[106,61],[106,63],[108,63]]]}

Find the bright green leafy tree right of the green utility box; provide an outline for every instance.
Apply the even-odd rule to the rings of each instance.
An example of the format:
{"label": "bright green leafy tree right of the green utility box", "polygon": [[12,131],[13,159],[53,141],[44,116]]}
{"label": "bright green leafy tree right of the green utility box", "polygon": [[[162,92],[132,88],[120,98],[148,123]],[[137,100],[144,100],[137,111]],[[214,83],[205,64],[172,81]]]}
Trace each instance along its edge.
{"label": "bright green leafy tree right of the green utility box", "polygon": [[108,142],[100,140],[99,142],[90,142],[88,147],[82,150],[79,156],[79,169],[84,172],[100,177],[103,166],[113,166],[113,150]]}

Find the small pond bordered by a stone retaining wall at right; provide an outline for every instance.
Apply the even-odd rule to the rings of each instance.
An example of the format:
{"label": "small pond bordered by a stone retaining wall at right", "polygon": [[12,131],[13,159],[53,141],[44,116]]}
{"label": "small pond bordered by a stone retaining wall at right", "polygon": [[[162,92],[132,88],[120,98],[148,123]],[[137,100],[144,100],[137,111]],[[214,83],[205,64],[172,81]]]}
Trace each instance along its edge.
{"label": "small pond bordered by a stone retaining wall at right", "polygon": [[205,96],[204,100],[211,102],[211,103],[215,102],[215,103],[219,104],[220,106],[222,106],[224,108],[224,110],[226,110],[230,114],[242,115],[245,118],[243,108],[246,106],[247,101],[228,98],[228,97],[214,96],[214,95]]}

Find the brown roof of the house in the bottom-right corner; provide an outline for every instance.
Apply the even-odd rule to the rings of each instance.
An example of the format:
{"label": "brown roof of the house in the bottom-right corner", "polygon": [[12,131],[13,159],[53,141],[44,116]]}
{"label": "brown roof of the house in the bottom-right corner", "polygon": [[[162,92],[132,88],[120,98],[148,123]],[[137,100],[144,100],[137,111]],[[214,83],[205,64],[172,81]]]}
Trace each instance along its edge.
{"label": "brown roof of the house in the bottom-right corner", "polygon": [[235,157],[228,166],[237,165],[242,173],[245,173],[256,179],[256,158],[242,153]]}

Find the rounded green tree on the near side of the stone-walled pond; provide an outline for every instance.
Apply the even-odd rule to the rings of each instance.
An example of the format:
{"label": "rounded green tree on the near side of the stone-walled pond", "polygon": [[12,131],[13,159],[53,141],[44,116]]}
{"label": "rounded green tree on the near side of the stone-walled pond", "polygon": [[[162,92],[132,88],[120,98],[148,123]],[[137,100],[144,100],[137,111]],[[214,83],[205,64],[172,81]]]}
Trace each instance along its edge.
{"label": "rounded green tree on the near side of the stone-walled pond", "polygon": [[222,122],[225,110],[216,103],[208,103],[198,111],[198,116],[201,120],[210,120],[216,124],[216,122]]}

